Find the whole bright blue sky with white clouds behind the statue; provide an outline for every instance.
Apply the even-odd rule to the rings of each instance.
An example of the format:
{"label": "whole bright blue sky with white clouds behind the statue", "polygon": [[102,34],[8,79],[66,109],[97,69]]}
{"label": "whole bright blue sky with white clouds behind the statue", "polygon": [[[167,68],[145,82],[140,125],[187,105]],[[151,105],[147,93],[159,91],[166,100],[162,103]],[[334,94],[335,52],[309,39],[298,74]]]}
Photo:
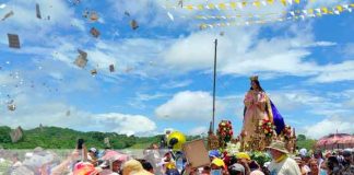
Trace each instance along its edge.
{"label": "whole bright blue sky with white clouds behind the statue", "polygon": [[[36,2],[42,20],[35,15]],[[226,1],[185,0],[185,5],[221,2]],[[194,18],[270,12],[280,18],[283,11],[352,1],[302,0],[287,7],[275,1],[236,11],[163,8],[177,3],[0,1],[0,16],[14,12],[0,22],[0,125],[43,124],[139,136],[166,128],[205,132],[212,116],[213,40],[217,38],[216,122],[229,119],[239,132],[248,78],[258,74],[298,133],[319,138],[337,130],[354,132],[354,13],[345,10],[340,15],[203,31],[199,24],[219,22]],[[97,12],[99,20],[83,18],[85,10]],[[137,20],[138,30],[131,30],[131,20]],[[98,38],[90,35],[91,27],[101,32]],[[21,49],[8,47],[8,33],[20,36]],[[73,65],[78,49],[88,54],[84,69]],[[111,63],[115,72],[109,72]],[[96,77],[91,75],[92,69],[97,69]],[[8,110],[12,100],[14,112]]]}

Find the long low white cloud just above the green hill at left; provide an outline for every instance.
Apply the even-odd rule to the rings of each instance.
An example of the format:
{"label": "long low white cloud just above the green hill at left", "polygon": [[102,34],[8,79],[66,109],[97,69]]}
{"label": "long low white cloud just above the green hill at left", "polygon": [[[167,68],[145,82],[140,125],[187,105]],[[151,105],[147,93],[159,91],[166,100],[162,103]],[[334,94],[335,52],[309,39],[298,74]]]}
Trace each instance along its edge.
{"label": "long low white cloud just above the green hill at left", "polygon": [[[35,95],[32,95],[32,97]],[[37,97],[38,98],[38,97]],[[14,100],[17,108],[1,114],[0,125],[23,128],[58,126],[82,131],[114,131],[126,135],[146,135],[156,129],[156,124],[146,116],[120,113],[92,114],[60,102],[38,103],[30,96]],[[67,112],[70,110],[70,116]]]}

